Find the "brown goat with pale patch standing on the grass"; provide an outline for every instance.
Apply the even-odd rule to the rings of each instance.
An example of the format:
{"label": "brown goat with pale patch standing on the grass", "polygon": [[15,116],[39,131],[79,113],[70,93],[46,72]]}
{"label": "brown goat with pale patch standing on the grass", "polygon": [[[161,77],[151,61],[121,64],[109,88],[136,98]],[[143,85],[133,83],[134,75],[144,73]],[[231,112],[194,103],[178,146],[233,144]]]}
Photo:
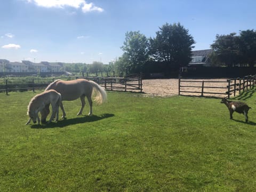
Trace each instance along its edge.
{"label": "brown goat with pale patch standing on the grass", "polygon": [[227,98],[222,98],[221,103],[225,103],[228,107],[230,119],[233,119],[233,113],[236,111],[239,114],[244,114],[245,122],[248,122],[248,111],[251,107],[247,106],[246,103],[240,101],[228,101]]}

